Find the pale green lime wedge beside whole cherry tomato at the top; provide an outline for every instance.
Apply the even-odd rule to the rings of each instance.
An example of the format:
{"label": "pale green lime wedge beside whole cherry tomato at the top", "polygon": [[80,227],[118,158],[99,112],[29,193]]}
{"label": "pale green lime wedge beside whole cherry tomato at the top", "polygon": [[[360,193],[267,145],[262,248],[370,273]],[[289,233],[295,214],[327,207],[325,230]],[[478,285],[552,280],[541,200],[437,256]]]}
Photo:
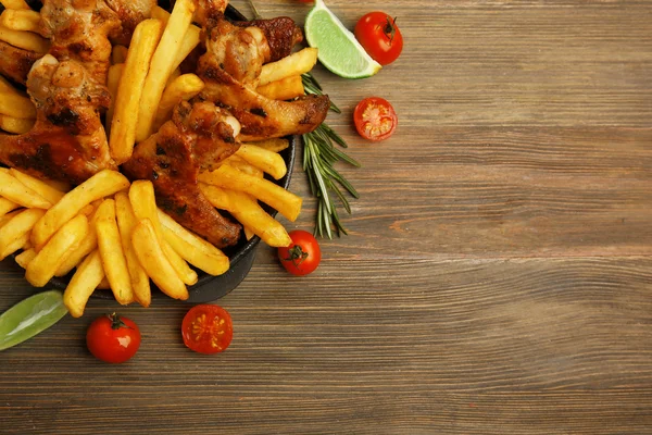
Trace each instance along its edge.
{"label": "pale green lime wedge beside whole cherry tomato at the top", "polygon": [[341,77],[371,77],[383,67],[364,51],[323,0],[316,0],[305,17],[305,39],[319,50],[319,62]]}

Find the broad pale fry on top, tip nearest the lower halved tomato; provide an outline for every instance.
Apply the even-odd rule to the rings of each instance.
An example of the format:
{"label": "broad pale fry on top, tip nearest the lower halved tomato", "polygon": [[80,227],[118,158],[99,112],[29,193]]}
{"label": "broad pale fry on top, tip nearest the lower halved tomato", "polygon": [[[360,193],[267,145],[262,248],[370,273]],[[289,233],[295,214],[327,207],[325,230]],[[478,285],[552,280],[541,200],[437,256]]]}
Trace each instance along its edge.
{"label": "broad pale fry on top, tip nearest the lower halved tomato", "polygon": [[136,225],[131,244],[138,261],[161,291],[171,298],[188,299],[188,288],[163,253],[149,219],[143,219]]}

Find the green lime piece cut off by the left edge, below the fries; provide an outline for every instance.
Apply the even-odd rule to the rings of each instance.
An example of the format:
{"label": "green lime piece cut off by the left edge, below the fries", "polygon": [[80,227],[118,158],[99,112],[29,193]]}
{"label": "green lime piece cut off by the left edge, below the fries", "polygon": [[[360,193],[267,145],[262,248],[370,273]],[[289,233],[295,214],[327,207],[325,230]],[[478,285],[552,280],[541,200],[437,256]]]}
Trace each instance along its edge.
{"label": "green lime piece cut off by the left edge, below the fries", "polygon": [[52,326],[67,314],[61,291],[39,293],[0,315],[0,350],[8,349]]}

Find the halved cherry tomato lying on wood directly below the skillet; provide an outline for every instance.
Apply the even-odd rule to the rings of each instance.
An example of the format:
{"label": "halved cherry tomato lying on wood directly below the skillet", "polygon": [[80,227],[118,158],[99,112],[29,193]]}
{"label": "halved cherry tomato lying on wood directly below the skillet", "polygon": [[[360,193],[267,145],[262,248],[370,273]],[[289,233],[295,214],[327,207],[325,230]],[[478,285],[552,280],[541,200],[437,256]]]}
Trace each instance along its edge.
{"label": "halved cherry tomato lying on wood directly below the skillet", "polygon": [[230,314],[224,308],[210,303],[192,307],[181,323],[184,344],[199,353],[226,350],[234,337]]}

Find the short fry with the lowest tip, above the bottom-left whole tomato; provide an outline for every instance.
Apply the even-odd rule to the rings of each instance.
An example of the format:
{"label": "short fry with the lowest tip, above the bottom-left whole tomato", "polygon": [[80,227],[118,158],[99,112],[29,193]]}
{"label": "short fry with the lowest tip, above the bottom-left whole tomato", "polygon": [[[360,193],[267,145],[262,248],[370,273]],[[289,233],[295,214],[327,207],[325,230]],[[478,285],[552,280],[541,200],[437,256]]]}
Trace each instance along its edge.
{"label": "short fry with the lowest tip, above the bottom-left whole tomato", "polygon": [[104,269],[100,252],[95,250],[79,264],[63,293],[63,303],[73,318],[80,318],[84,314],[88,298],[103,278]]}

